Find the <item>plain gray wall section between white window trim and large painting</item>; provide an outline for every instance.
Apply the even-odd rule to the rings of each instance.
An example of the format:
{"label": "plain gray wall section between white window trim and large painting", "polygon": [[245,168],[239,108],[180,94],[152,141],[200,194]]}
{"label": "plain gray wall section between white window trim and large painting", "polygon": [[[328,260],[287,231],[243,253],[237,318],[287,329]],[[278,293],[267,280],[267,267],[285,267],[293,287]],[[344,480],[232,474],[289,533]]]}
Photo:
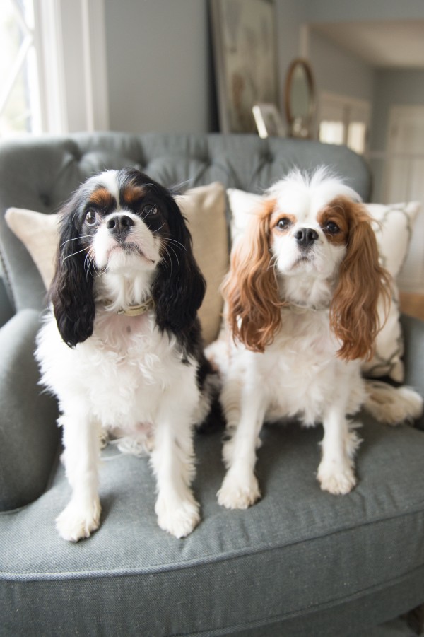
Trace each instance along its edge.
{"label": "plain gray wall section between white window trim and large painting", "polygon": [[105,0],[110,128],[213,127],[207,3]]}

